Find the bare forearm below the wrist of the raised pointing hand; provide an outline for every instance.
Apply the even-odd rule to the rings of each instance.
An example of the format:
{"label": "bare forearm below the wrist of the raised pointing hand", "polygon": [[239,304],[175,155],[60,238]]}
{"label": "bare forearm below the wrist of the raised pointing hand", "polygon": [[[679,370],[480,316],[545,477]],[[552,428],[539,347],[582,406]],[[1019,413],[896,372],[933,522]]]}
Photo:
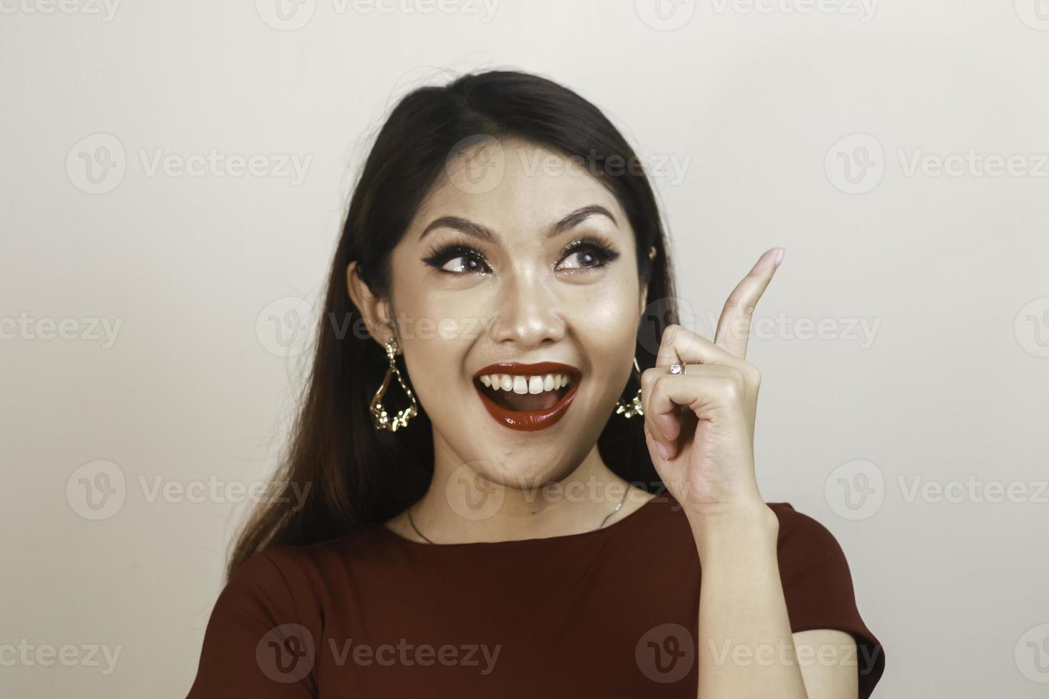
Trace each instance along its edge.
{"label": "bare forearm below the wrist of the raised pointing hand", "polygon": [[807,699],[764,503],[690,517],[700,555],[699,699]]}

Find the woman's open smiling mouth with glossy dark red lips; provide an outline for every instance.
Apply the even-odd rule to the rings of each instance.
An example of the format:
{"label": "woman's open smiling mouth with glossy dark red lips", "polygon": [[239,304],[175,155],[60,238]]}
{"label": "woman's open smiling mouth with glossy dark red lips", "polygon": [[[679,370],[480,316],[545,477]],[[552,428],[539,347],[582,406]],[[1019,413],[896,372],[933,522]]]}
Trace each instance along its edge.
{"label": "woman's open smiling mouth with glossy dark red lips", "polygon": [[488,413],[513,430],[542,430],[564,415],[581,373],[555,362],[500,363],[477,372],[474,388]]}

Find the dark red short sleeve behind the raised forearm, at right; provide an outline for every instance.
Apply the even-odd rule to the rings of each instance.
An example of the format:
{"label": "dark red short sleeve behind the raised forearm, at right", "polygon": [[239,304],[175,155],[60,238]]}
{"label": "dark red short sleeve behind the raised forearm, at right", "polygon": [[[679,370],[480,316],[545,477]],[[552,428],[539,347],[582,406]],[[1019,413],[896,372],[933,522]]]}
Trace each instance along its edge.
{"label": "dark red short sleeve behind the raised forearm, at right", "polygon": [[859,697],[866,699],[885,670],[885,653],[856,606],[844,552],[822,524],[789,503],[770,503],[779,519],[777,558],[791,631],[835,629],[856,639]]}

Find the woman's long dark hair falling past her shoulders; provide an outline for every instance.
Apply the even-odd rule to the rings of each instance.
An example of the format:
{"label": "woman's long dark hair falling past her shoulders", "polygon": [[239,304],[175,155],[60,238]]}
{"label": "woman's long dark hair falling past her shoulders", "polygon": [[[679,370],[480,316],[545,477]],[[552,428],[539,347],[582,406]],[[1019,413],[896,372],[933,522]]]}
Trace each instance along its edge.
{"label": "woman's long dark hair falling past her shoulders", "polygon": [[[309,377],[274,481],[282,485],[237,538],[228,576],[258,550],[313,544],[385,522],[426,493],[433,473],[430,419],[420,406],[419,415],[395,433],[372,424],[368,407],[388,361],[367,332],[352,330],[361,327],[361,314],[349,298],[346,267],[356,260],[372,293],[389,298],[391,250],[456,145],[485,135],[515,137],[577,162],[583,158],[617,198],[636,236],[639,279],[648,283],[649,310],[638,328],[636,356],[642,371],[655,365],[663,329],[678,322],[672,270],[652,189],[613,124],[572,90],[526,72],[492,70],[416,88],[389,114],[354,188]],[[648,255],[652,246],[655,259]],[[400,366],[403,357],[398,362],[410,381]],[[390,393],[399,393],[395,381],[392,387]],[[631,372],[624,398],[637,390]],[[598,449],[620,477],[649,492],[662,489],[645,445],[643,418],[609,415]]]}

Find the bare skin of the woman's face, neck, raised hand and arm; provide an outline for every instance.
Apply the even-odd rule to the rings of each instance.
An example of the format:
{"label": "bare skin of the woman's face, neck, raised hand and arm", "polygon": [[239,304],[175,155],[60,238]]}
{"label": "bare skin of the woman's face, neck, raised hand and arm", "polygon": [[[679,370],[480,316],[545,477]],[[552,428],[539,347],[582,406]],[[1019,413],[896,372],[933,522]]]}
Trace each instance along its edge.
{"label": "bare skin of the woman's face, neck, raised hand and arm", "polygon": [[[615,510],[624,493],[622,507],[606,524],[628,517],[652,497],[627,490],[597,449],[633,371],[647,291],[639,283],[626,216],[596,178],[573,170],[557,153],[509,139],[483,155],[475,161],[496,158],[501,177],[477,191],[473,180],[465,179],[469,160],[448,169],[393,249],[390,298],[371,293],[355,274],[356,262],[346,270],[350,297],[371,336],[384,345],[395,335],[412,390],[433,423],[433,480],[410,510],[438,545],[588,531]],[[537,162],[556,167],[536,168]],[[594,214],[545,236],[566,214],[593,204],[615,220]],[[495,239],[478,240],[449,226],[434,227],[421,239],[442,217],[483,225]],[[619,256],[595,266],[587,250],[563,252],[586,234],[604,238]],[[458,257],[445,264],[454,274],[442,274],[424,262],[446,242],[468,244],[484,263],[471,267],[470,258]],[[714,648],[725,640],[786,643],[790,650],[853,645],[854,654],[852,637],[840,631],[791,634],[776,561],[778,523],[754,476],[761,375],[745,354],[750,318],[778,265],[779,249],[765,253],[733,290],[713,343],[681,326],[667,328],[657,366],[642,374],[646,441],[657,471],[684,507],[703,566],[700,638],[714,641]],[[433,325],[424,329],[419,324],[427,320]],[[442,333],[437,327],[454,331]],[[580,369],[578,393],[564,417],[534,433],[496,423],[471,378],[500,361],[554,361]],[[686,375],[668,375],[675,362],[686,365]],[[541,488],[550,484],[564,489]],[[423,541],[408,524],[407,510],[385,526]],[[701,699],[857,696],[855,665],[799,664],[789,658],[772,664],[719,663],[709,642],[697,648]]]}

